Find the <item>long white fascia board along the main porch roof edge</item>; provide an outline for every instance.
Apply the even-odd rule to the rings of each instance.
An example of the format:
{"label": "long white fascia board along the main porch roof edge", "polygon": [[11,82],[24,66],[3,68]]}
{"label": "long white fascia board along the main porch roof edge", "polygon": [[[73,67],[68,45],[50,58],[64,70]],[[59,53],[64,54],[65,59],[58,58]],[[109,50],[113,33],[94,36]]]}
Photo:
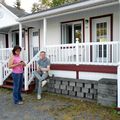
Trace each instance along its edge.
{"label": "long white fascia board along the main porch roof edge", "polygon": [[52,14],[59,14],[61,12],[66,12],[66,11],[70,11],[70,10],[74,10],[74,9],[80,9],[80,8],[88,8],[91,7],[92,5],[99,5],[99,4],[105,4],[105,3],[111,3],[111,2],[116,2],[118,0],[89,0],[89,1],[85,1],[85,2],[80,2],[77,4],[72,4],[72,5],[68,5],[68,6],[64,6],[64,7],[60,7],[60,8],[56,8],[56,9],[51,9],[48,11],[44,11],[41,13],[36,13],[36,14],[31,14],[25,17],[21,17],[18,19],[18,21],[23,22],[23,21],[27,21],[30,19],[36,19],[36,18],[40,18],[40,17],[46,17]]}

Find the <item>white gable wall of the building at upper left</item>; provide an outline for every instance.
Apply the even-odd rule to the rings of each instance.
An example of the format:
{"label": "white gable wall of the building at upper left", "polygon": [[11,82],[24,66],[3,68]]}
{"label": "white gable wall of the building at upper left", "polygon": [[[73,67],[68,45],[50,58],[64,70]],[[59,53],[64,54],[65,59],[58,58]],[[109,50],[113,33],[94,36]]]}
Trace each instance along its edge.
{"label": "white gable wall of the building at upper left", "polygon": [[12,13],[10,13],[8,10],[4,9],[1,6],[0,13],[0,28],[18,24],[18,22],[16,22],[17,17],[15,17]]}

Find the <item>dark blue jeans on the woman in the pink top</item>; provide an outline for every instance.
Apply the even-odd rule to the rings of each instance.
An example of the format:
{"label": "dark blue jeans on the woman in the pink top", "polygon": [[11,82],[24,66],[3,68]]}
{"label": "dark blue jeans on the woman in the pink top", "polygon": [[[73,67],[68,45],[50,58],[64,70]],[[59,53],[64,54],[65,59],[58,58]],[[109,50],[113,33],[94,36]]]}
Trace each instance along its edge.
{"label": "dark blue jeans on the woman in the pink top", "polygon": [[23,87],[23,73],[12,73],[13,78],[13,100],[14,103],[22,101],[21,90]]}

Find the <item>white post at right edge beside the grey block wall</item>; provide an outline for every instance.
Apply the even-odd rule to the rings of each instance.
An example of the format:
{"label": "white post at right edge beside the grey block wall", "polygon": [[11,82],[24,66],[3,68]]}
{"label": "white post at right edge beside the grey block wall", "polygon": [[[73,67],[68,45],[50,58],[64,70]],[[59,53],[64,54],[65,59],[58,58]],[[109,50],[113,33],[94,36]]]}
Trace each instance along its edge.
{"label": "white post at right edge beside the grey block wall", "polygon": [[117,67],[117,107],[120,108],[120,64]]}

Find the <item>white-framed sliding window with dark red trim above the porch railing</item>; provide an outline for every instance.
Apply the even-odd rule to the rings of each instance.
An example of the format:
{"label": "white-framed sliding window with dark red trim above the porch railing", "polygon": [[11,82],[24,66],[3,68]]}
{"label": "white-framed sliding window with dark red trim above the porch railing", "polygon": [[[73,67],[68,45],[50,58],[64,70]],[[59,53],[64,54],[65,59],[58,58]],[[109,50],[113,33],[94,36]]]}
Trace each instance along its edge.
{"label": "white-framed sliding window with dark red trim above the porch railing", "polygon": [[75,43],[78,39],[79,43],[83,42],[83,21],[65,22],[61,24],[62,44]]}

